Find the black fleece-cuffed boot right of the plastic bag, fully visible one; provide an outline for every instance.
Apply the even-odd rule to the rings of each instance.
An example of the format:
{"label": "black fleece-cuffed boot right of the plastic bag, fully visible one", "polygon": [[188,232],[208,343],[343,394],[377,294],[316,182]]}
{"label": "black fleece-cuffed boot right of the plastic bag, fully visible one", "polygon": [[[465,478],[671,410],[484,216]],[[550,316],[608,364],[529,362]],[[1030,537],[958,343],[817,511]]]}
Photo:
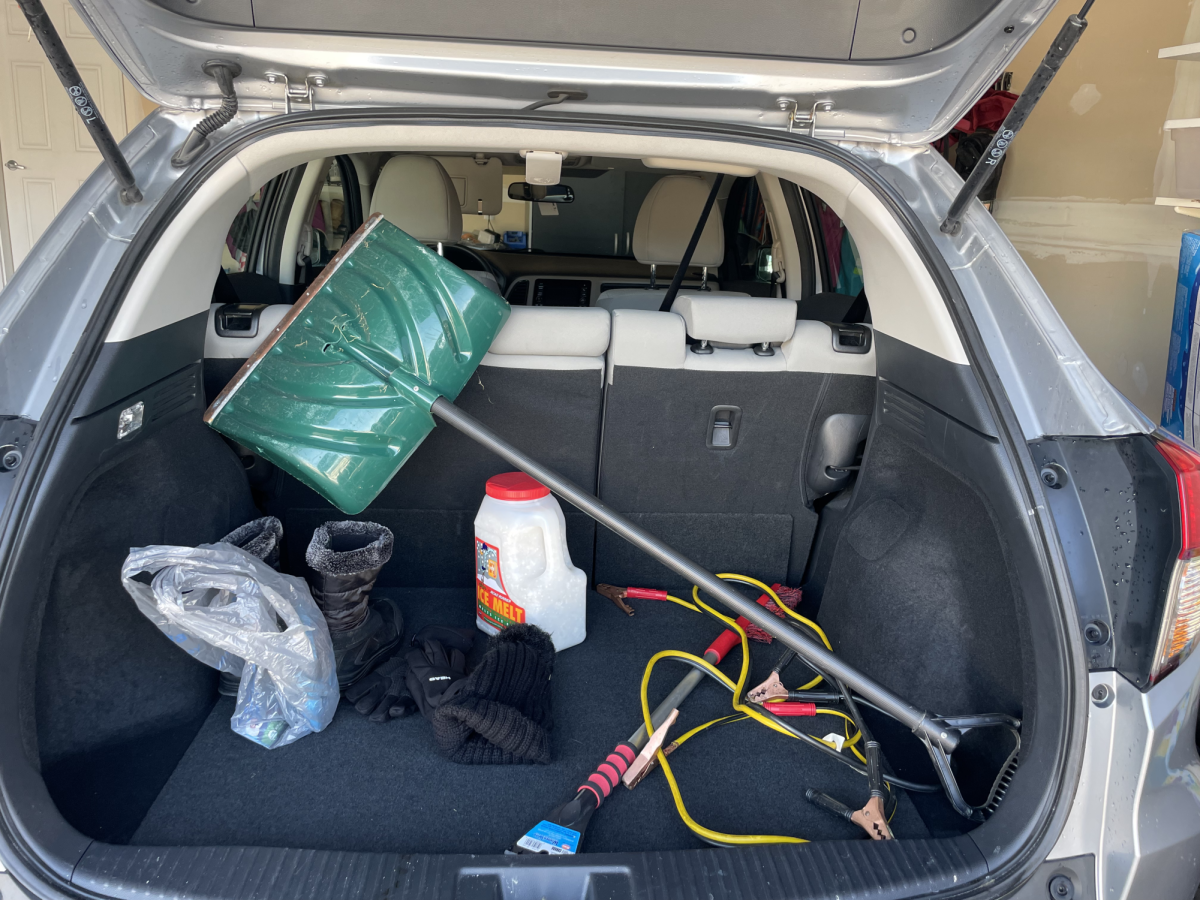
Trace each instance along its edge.
{"label": "black fleece-cuffed boot right of the plastic bag, fully visible one", "polygon": [[391,600],[371,600],[379,570],[391,559],[391,530],[374,522],[326,522],[305,553],[313,600],[325,614],[342,690],[386,659],[404,636]]}

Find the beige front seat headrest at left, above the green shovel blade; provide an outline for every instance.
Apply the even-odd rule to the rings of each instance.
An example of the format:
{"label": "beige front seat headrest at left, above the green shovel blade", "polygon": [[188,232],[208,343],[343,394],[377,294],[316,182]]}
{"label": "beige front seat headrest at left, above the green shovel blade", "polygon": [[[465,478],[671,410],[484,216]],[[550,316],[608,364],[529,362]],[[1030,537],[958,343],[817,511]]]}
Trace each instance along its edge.
{"label": "beige front seat headrest at left, above the green shovel blade", "polygon": [[371,212],[419,241],[451,242],[462,238],[458,193],[442,163],[431,156],[394,156],[376,179]]}

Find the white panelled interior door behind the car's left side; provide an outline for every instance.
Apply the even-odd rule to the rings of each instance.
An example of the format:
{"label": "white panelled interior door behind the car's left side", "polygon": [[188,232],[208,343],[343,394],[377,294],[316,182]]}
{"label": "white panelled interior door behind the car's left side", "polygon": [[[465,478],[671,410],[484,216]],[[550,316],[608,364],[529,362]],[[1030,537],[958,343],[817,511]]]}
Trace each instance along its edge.
{"label": "white panelled interior door behind the car's left side", "polygon": [[[102,160],[13,0],[0,23],[0,160],[12,265]],[[125,137],[125,79],[66,0],[46,10],[113,137]]]}

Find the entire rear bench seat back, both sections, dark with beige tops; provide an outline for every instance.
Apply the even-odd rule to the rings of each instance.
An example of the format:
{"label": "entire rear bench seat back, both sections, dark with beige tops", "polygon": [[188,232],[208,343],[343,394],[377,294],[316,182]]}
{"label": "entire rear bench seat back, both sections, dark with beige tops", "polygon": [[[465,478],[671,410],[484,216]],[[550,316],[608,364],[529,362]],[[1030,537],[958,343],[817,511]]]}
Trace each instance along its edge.
{"label": "entire rear bench seat back, both sections, dark with beige tops", "polygon": [[[703,185],[682,178],[695,182],[692,193]],[[437,220],[433,230],[449,238],[442,220],[452,215],[408,216]],[[874,352],[836,352],[830,326],[797,322],[791,300],[689,292],[658,312],[665,290],[635,293],[653,310],[512,307],[456,403],[697,562],[798,583],[817,518],[805,450],[829,414],[870,413]],[[434,428],[361,515],[396,535],[380,587],[470,586],[484,485],[509,468],[458,432]],[[301,571],[307,535],[340,514],[295,479],[280,478],[270,493],[269,511],[290,536],[290,569]],[[587,516],[563,511],[571,559],[590,582],[682,587]]]}

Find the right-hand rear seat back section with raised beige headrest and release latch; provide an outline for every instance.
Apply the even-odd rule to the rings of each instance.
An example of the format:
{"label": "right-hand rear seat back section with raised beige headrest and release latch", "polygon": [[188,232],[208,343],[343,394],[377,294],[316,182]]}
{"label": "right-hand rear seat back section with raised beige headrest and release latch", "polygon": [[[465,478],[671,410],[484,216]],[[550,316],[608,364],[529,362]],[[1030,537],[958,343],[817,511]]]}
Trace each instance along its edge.
{"label": "right-hand rear seat back section with raised beige headrest and release latch", "polygon": [[[840,353],[791,300],[679,298],[614,310],[600,497],[702,565],[796,584],[817,516],[804,456],[833,413],[869,414],[874,348]],[[684,587],[606,529],[595,577]]]}

